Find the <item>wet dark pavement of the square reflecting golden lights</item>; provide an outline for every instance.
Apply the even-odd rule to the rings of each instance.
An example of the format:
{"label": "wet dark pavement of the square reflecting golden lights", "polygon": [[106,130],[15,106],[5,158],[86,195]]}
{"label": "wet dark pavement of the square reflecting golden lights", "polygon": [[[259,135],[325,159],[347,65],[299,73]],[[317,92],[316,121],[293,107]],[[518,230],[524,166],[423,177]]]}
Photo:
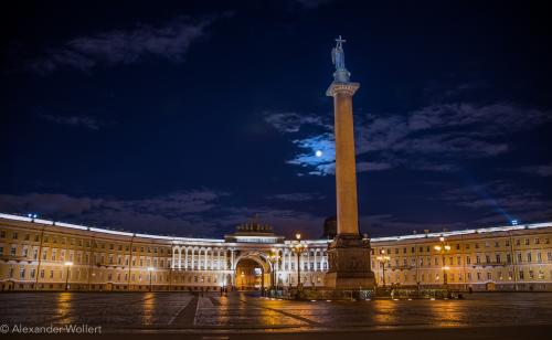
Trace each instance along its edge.
{"label": "wet dark pavement of the square reflecting golden lights", "polygon": [[[0,323],[102,326],[103,332],[269,332],[500,329],[552,326],[552,294],[474,294],[463,300],[290,301],[233,293],[15,293]],[[508,332],[513,334],[512,332]],[[550,334],[550,333],[549,333]],[[318,333],[317,338],[320,338]],[[322,337],[323,338],[323,337]]]}

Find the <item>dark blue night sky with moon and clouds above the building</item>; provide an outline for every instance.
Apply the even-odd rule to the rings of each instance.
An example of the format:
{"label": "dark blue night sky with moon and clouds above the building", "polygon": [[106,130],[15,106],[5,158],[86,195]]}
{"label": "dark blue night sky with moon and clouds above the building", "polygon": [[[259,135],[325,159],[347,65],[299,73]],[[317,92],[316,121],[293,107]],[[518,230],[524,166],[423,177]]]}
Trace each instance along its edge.
{"label": "dark blue night sky with moon and clouds above the building", "polygon": [[0,212],[214,237],[258,214],[319,237],[342,35],[361,232],[552,220],[544,7],[20,2],[1,14]]}

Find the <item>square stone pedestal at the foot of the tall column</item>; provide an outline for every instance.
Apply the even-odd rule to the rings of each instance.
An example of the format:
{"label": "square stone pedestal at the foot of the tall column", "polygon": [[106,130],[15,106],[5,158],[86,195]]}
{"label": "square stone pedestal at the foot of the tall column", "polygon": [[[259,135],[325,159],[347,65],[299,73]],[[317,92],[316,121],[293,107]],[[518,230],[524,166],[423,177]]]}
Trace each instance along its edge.
{"label": "square stone pedestal at the foot of the tall column", "polygon": [[338,290],[373,289],[374,273],[370,269],[370,244],[360,235],[341,234],[328,247],[329,270],[326,288]]}

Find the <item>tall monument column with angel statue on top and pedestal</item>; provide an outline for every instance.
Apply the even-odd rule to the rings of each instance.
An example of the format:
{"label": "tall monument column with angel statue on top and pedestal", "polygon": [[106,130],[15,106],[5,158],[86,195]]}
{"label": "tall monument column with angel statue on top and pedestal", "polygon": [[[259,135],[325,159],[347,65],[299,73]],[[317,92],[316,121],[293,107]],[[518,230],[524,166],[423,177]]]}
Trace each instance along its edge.
{"label": "tall monument column with angel statue on top and pedestal", "polygon": [[359,233],[357,171],[352,120],[352,96],[360,84],[349,81],[344,66],[344,40],[336,40],[331,52],[336,72],[326,95],[333,97],[336,135],[336,195],[338,234],[328,247],[329,270],[326,283],[335,289],[373,288],[370,244]]}

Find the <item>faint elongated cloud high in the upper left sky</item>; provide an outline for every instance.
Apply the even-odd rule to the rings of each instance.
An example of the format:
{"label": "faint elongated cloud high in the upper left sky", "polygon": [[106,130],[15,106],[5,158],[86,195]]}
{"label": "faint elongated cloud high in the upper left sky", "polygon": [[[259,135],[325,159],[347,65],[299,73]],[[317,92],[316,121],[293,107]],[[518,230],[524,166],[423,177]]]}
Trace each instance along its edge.
{"label": "faint elongated cloud high in the upper left sky", "polygon": [[150,56],[182,62],[190,45],[205,36],[206,29],[219,18],[179,17],[160,26],[137,24],[131,30],[78,36],[49,49],[43,57],[31,63],[30,68],[40,74],[62,67],[89,72],[97,66],[135,64]]}

